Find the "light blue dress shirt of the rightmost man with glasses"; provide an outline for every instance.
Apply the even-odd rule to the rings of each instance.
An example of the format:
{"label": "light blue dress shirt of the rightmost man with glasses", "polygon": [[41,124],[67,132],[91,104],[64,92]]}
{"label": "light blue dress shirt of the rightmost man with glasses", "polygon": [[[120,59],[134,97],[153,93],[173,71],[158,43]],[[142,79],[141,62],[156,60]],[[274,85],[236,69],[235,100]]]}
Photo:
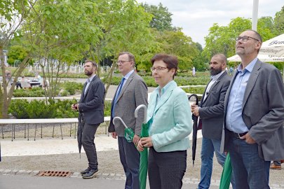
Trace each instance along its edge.
{"label": "light blue dress shirt of the rightmost man with glasses", "polygon": [[232,132],[243,133],[248,132],[248,127],[243,122],[243,96],[245,94],[245,88],[250,78],[257,57],[243,69],[242,64],[238,65],[237,76],[231,87],[229,94],[229,102],[226,108],[226,128]]}

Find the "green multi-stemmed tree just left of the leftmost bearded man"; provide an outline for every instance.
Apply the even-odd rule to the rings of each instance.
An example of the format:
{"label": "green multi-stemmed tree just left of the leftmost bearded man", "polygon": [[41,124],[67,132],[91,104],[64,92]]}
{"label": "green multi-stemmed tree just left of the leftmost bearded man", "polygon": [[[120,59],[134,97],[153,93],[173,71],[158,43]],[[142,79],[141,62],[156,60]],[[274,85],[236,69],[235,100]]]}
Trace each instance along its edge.
{"label": "green multi-stemmed tree just left of the leftmost bearded man", "polygon": [[38,60],[43,80],[50,83],[46,90],[49,99],[57,94],[60,74],[81,59],[81,52],[88,49],[88,43],[99,41],[102,15],[98,12],[99,2],[39,1],[23,25],[24,43]]}

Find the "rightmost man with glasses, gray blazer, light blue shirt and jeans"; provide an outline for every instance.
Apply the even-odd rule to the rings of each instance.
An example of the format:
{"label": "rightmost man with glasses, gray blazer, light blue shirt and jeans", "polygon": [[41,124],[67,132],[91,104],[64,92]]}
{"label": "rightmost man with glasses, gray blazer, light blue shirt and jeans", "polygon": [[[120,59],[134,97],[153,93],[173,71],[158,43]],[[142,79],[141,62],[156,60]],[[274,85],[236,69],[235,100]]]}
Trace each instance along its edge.
{"label": "rightmost man with glasses, gray blazer, light blue shirt and jeans", "polygon": [[269,188],[271,160],[284,158],[284,85],[280,71],[257,59],[262,37],[243,31],[236,38],[241,64],[224,104],[221,151],[229,151],[236,189]]}

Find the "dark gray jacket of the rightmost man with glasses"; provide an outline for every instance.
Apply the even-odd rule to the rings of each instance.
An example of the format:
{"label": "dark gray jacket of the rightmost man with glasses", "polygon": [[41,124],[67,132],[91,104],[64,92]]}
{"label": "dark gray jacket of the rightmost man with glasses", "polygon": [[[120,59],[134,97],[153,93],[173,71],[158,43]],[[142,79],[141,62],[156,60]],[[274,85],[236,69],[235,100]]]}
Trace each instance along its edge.
{"label": "dark gray jacket of the rightmost man with glasses", "polygon": [[[225,97],[225,113],[235,78],[236,72]],[[259,157],[266,161],[283,160],[284,85],[281,73],[275,66],[261,62],[259,59],[255,63],[245,88],[242,117],[250,137],[258,144]],[[228,136],[225,122],[221,152],[227,149]]]}

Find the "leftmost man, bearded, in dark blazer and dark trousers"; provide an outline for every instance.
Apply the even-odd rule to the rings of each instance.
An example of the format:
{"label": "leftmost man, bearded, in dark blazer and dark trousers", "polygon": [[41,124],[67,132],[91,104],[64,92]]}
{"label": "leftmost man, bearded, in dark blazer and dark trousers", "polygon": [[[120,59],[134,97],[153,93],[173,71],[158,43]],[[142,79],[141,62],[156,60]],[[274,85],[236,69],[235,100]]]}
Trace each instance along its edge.
{"label": "leftmost man, bearded, in dark blazer and dark trousers", "polygon": [[86,60],[84,71],[88,79],[83,87],[79,104],[72,104],[72,109],[79,111],[79,120],[84,122],[81,143],[88,158],[88,168],[81,174],[83,179],[91,179],[98,172],[94,140],[97,127],[104,122],[104,83],[95,75],[97,71],[95,62]]}

